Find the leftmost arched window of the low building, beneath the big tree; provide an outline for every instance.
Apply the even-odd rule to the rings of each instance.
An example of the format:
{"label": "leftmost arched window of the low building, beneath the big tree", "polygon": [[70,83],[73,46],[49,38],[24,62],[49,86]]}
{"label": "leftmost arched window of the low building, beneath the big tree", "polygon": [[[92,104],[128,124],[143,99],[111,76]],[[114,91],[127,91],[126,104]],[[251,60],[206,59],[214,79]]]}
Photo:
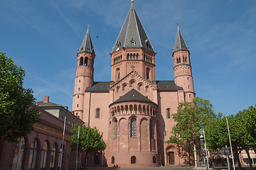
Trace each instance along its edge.
{"label": "leftmost arched window of the low building, beneath the big tree", "polygon": [[[18,151],[19,151],[20,146],[21,146],[21,151],[19,152],[19,155],[18,155]],[[17,162],[18,162],[18,169],[22,168],[22,162],[23,162],[23,156],[24,156],[25,148],[26,148],[26,141],[22,137],[21,140],[19,140],[16,143],[16,149],[15,149],[15,154],[14,154],[14,161],[13,161],[13,166],[12,166],[13,169],[16,169]]]}

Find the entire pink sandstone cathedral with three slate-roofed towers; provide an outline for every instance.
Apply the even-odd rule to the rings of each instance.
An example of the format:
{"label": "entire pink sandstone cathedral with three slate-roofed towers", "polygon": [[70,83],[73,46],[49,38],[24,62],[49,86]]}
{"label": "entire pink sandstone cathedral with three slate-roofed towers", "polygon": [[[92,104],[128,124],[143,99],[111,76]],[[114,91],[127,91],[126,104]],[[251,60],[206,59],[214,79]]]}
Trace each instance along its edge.
{"label": "entire pink sandstone cathedral with three slate-roofed towers", "polygon": [[156,52],[133,2],[110,55],[111,80],[94,81],[95,51],[87,29],[77,55],[73,114],[97,127],[107,144],[104,154],[95,153],[90,162],[98,164],[104,155],[107,166],[184,164],[184,151],[166,143],[178,102],[195,97],[190,52],[179,28],[174,81],[156,80]]}

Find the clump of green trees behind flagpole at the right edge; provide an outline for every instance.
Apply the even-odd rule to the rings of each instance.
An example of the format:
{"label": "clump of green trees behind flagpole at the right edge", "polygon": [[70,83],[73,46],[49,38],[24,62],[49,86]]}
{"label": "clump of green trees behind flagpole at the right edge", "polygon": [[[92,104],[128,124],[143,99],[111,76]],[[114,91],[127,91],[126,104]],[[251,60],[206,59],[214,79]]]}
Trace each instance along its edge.
{"label": "clump of green trees behind flagpole at the right edge", "polygon": [[[238,156],[243,149],[247,152],[252,169],[249,149],[256,151],[256,107],[250,106],[247,110],[229,115],[227,118],[233,153],[238,160],[238,169],[242,169]],[[221,149],[225,145],[230,145],[226,118],[210,121],[205,127],[205,132],[209,149]]]}

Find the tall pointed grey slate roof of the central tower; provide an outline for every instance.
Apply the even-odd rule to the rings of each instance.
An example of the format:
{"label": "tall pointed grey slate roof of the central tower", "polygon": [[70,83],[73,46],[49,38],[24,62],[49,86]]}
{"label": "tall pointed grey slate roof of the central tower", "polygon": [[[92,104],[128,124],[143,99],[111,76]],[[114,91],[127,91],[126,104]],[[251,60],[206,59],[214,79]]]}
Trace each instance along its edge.
{"label": "tall pointed grey slate roof of the central tower", "polygon": [[112,52],[122,49],[123,47],[144,47],[145,49],[154,52],[154,48],[146,35],[133,3],[118,35],[117,41],[114,44]]}

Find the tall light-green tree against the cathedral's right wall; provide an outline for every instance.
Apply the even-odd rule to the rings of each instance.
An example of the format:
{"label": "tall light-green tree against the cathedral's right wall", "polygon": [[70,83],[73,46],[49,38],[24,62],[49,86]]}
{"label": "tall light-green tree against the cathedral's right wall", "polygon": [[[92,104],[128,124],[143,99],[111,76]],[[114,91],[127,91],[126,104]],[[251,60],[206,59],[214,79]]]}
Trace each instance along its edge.
{"label": "tall light-green tree against the cathedral's right wall", "polygon": [[[173,114],[176,125],[172,128],[171,137],[167,142],[192,148],[201,135],[200,129],[210,120],[216,120],[221,116],[221,114],[216,115],[210,101],[203,98],[196,97],[192,103],[186,101],[178,103],[177,113]],[[189,151],[188,154],[190,159]]]}

